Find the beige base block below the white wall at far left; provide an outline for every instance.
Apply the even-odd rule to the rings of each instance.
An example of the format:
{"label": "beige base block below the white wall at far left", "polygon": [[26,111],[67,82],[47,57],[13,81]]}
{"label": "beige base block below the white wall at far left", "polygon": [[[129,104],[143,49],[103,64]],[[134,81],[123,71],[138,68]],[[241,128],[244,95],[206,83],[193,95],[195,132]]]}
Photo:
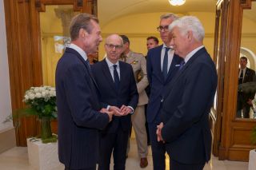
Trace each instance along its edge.
{"label": "beige base block below the white wall at far left", "polygon": [[0,131],[0,153],[16,146],[15,128]]}

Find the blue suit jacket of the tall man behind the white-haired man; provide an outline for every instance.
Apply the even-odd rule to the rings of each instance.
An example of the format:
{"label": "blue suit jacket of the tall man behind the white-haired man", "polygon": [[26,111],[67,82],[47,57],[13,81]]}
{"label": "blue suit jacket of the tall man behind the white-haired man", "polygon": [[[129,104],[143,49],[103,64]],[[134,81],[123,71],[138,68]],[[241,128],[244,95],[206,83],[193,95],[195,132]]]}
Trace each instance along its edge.
{"label": "blue suit jacket of the tall man behind the white-haired man", "polygon": [[146,121],[152,122],[159,114],[161,100],[164,96],[164,87],[171,81],[175,73],[177,73],[179,64],[183,60],[182,57],[174,54],[170,64],[170,69],[166,80],[163,77],[161,69],[161,51],[162,45],[150,49],[146,58],[147,77],[150,83],[150,101],[147,106]]}

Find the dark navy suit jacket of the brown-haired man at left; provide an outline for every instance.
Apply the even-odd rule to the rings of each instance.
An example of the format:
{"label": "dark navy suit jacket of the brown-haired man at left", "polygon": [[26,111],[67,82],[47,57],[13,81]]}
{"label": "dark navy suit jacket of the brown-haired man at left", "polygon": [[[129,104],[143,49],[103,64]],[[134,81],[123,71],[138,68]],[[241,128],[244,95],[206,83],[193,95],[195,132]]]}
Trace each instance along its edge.
{"label": "dark navy suit jacket of the brown-haired man at left", "polygon": [[91,168],[98,158],[99,131],[109,122],[100,110],[86,61],[66,48],[56,69],[58,107],[58,156],[66,167]]}

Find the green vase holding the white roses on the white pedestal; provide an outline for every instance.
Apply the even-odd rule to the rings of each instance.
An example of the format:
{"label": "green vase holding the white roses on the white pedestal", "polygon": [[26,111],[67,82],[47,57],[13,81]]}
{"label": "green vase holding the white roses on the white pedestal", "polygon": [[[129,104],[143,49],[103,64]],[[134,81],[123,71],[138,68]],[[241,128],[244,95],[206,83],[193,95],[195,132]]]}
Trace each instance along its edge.
{"label": "green vase holding the white roses on the white pedestal", "polygon": [[49,139],[52,137],[52,132],[50,128],[50,117],[41,118],[41,138],[42,140]]}

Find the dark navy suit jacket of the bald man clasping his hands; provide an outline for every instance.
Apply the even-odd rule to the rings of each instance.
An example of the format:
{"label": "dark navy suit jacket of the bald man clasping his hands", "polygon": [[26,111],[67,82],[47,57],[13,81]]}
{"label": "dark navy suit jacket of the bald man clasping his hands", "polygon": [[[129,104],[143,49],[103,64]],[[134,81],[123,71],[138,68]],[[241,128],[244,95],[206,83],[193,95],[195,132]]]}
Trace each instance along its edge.
{"label": "dark navy suit jacket of the bald man clasping his hands", "polygon": [[[119,66],[120,86],[119,89],[116,89],[106,59],[92,65],[91,70],[98,84],[100,101],[105,108],[107,105],[117,106],[118,108],[122,105],[129,105],[135,109],[138,104],[138,91],[133,69],[129,64],[122,61],[119,61]],[[130,114],[124,117],[114,116],[110,124],[102,132],[116,132],[118,128],[122,128],[123,131],[130,130]]]}

